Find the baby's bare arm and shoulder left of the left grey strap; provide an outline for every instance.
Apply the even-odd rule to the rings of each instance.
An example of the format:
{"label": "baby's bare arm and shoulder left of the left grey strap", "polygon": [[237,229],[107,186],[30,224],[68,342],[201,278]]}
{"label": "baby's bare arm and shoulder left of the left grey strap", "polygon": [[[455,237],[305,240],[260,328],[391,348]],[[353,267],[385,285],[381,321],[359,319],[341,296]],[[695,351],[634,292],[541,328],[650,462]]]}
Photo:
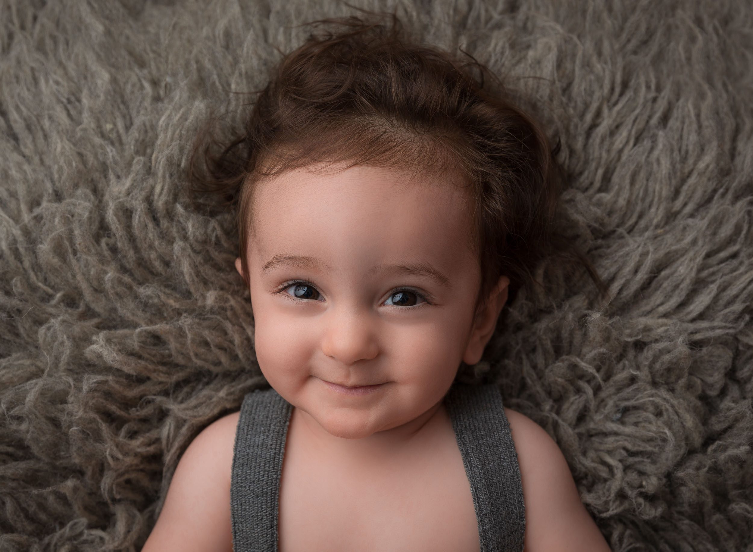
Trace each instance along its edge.
{"label": "baby's bare arm and shoulder left of the left grey strap", "polygon": [[142,552],[232,552],[230,471],[238,415],[215,420],[191,441]]}

